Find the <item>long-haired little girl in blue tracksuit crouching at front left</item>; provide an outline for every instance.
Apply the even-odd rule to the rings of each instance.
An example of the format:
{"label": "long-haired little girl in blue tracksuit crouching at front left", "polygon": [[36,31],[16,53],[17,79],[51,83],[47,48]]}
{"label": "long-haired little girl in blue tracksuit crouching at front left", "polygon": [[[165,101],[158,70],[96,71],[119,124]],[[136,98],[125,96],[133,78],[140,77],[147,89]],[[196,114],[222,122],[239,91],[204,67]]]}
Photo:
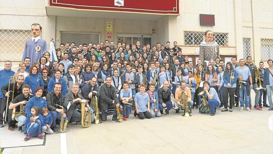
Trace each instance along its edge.
{"label": "long-haired little girl in blue tracksuit crouching at front left", "polygon": [[[30,113],[28,114],[26,120],[25,120],[25,141],[28,141],[31,137],[38,136],[39,139],[43,139],[43,136],[41,134],[41,128],[43,124],[43,118],[42,115],[39,114],[40,108],[38,106],[32,106]],[[33,122],[31,122],[30,119],[33,119]]]}

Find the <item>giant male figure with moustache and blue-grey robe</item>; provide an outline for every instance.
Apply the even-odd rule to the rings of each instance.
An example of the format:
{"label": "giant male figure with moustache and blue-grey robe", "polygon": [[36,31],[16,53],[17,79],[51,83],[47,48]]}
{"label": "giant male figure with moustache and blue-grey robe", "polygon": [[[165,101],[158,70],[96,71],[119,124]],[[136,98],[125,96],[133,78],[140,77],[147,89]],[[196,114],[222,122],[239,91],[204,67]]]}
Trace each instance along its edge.
{"label": "giant male figure with moustache and blue-grey robe", "polygon": [[47,42],[41,39],[41,33],[42,26],[40,26],[38,23],[33,23],[31,25],[32,38],[27,40],[25,43],[25,50],[23,53],[22,61],[24,61],[26,57],[29,57],[31,64],[38,62],[40,57],[43,56],[43,53],[47,51]]}

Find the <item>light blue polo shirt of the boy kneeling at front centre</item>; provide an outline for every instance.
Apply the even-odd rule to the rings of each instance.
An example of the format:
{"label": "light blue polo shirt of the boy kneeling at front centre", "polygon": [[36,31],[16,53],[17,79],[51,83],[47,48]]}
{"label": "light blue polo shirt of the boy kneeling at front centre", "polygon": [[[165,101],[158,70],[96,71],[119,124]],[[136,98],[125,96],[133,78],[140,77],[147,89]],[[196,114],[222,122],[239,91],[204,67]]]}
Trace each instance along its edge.
{"label": "light blue polo shirt of the boy kneeling at front centre", "polygon": [[141,92],[138,92],[136,95],[135,95],[135,99],[134,99],[134,102],[137,102],[137,108],[139,110],[139,112],[146,112],[147,111],[147,102],[150,102],[150,98],[149,98],[149,95],[144,92],[144,93],[141,93]]}

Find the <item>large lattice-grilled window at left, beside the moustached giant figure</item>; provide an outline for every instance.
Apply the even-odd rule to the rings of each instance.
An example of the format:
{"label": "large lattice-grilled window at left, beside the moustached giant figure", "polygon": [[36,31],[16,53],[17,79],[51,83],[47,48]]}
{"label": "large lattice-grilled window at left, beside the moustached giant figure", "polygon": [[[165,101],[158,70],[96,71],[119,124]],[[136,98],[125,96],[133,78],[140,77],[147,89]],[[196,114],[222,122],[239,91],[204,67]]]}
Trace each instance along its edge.
{"label": "large lattice-grilled window at left, beside the moustached giant figure", "polygon": [[21,61],[30,30],[0,30],[0,60]]}

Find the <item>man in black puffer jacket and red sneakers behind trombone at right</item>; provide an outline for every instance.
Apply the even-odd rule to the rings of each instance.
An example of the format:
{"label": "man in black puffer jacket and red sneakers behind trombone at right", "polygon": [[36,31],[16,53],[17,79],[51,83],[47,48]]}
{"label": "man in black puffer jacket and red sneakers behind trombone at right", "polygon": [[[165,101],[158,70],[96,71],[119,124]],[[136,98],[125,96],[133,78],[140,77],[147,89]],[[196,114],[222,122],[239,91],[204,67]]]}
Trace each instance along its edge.
{"label": "man in black puffer jacket and red sneakers behind trombone at right", "polygon": [[[255,106],[254,108],[257,109],[257,110],[260,110],[257,108],[257,105],[259,105],[259,98],[260,98],[260,91],[259,90],[256,90],[257,87],[257,84],[255,82],[255,68],[256,68],[256,65],[253,64],[251,61],[252,61],[252,58],[250,56],[247,56],[247,62],[244,63],[244,65],[246,67],[249,68],[250,70],[250,73],[251,73],[251,77],[252,77],[252,83],[253,83],[253,90],[255,92]],[[251,96],[249,96],[249,109],[251,110],[251,107],[252,107],[252,104],[251,104]]]}

